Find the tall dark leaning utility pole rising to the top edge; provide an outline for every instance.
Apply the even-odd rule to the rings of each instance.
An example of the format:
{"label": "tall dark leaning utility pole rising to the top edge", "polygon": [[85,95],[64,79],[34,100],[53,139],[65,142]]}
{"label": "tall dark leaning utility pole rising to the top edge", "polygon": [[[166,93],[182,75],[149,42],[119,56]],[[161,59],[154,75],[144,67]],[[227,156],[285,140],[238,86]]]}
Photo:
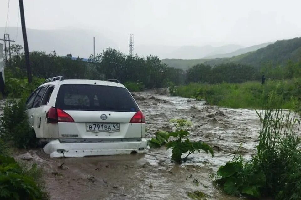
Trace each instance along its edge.
{"label": "tall dark leaning utility pole rising to the top edge", "polygon": [[21,25],[22,25],[22,33],[23,33],[27,78],[28,78],[28,83],[31,83],[32,82],[32,76],[31,76],[31,69],[30,69],[30,62],[29,62],[29,50],[28,50],[27,34],[26,34],[26,27],[25,27],[23,0],[19,0],[19,7],[20,7]]}

